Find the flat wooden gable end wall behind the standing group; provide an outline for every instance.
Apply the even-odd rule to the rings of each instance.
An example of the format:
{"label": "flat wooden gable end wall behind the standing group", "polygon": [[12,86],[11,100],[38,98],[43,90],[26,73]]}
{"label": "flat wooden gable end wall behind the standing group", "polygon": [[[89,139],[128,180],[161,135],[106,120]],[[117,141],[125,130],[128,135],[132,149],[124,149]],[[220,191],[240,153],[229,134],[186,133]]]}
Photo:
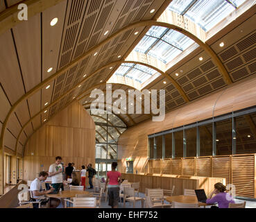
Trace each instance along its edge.
{"label": "flat wooden gable end wall behind the standing group", "polygon": [[24,180],[32,180],[60,155],[79,169],[95,162],[95,126],[92,117],[75,101],[42,126],[28,140],[24,153]]}

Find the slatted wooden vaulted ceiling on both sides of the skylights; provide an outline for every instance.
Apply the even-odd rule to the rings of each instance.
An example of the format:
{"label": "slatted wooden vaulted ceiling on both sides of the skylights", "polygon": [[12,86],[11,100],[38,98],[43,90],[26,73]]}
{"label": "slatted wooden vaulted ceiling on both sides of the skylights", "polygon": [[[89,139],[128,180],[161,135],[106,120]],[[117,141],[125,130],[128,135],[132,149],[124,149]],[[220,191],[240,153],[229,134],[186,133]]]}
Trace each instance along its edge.
{"label": "slatted wooden vaulted ceiling on both sides of the skylights", "polygon": [[[74,99],[89,108],[92,101],[89,92],[94,88],[105,90],[105,82],[150,28],[141,21],[154,23],[153,19],[159,17],[171,1],[59,0],[53,3],[26,0],[22,3],[28,3],[28,13],[30,7],[38,12],[28,17],[27,22],[17,24],[10,22],[10,12],[17,11],[15,4],[20,1],[0,2],[0,145],[22,155],[26,141],[44,120]],[[30,6],[31,2],[35,4]],[[36,3],[41,3],[41,8],[36,8]],[[155,12],[151,14],[153,8]],[[50,26],[54,17],[58,17],[58,23]],[[4,19],[9,22],[4,23]],[[256,71],[255,7],[250,9],[250,16],[239,21],[207,42],[233,83]],[[141,23],[131,26],[136,22]],[[127,26],[130,28],[125,28]],[[109,32],[104,35],[106,31]],[[140,34],[134,35],[135,31]],[[225,42],[223,48],[219,48],[220,41]],[[198,61],[200,56],[204,58],[202,62]],[[50,67],[53,70],[48,73]],[[166,110],[169,111],[225,87],[224,77],[219,65],[200,48],[146,88],[166,89]],[[47,85],[51,87],[46,89]],[[113,89],[126,92],[130,88],[113,85]],[[151,116],[120,114],[119,118],[126,126],[133,126]]]}

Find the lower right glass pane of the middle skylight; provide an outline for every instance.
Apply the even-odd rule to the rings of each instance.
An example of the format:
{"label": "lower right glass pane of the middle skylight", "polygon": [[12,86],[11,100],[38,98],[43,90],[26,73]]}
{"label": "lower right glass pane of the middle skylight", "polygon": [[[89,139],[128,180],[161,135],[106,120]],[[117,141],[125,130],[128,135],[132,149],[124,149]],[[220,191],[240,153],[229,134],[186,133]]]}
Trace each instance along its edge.
{"label": "lower right glass pane of the middle skylight", "polygon": [[160,42],[158,42],[153,49],[148,52],[148,55],[167,63],[173,60],[173,58],[176,58],[180,53],[182,53],[182,51],[160,40]]}

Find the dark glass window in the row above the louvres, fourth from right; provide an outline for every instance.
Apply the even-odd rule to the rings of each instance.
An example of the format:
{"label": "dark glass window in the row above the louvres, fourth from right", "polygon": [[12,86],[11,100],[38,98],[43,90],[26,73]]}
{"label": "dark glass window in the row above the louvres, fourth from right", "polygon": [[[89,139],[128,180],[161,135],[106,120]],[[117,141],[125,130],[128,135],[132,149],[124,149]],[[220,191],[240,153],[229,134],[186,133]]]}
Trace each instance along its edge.
{"label": "dark glass window in the row above the louvres, fourth from right", "polygon": [[187,142],[187,157],[196,157],[196,127],[185,130]]}

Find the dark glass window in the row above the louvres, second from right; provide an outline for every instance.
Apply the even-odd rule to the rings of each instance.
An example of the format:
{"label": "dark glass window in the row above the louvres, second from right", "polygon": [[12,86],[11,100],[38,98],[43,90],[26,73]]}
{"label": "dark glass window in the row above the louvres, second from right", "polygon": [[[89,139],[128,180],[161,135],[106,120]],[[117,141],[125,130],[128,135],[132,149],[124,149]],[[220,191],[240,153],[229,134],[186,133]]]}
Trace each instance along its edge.
{"label": "dark glass window in the row above the louvres, second from right", "polygon": [[232,118],[216,122],[216,155],[232,155]]}

